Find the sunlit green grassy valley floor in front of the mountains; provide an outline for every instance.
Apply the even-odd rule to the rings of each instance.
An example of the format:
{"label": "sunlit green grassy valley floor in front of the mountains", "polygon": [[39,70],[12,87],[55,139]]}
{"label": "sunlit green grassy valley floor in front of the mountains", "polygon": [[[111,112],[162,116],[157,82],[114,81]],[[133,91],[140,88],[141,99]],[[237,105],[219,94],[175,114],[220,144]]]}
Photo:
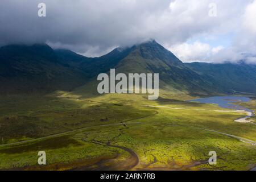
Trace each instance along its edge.
{"label": "sunlit green grassy valley floor in front of the mountains", "polygon": [[[1,97],[0,168],[247,170],[255,166],[256,146],[226,135],[256,141],[255,125],[234,122],[241,113],[185,102],[192,98],[186,93],[161,90],[159,100],[148,101],[138,94],[85,91]],[[13,143],[21,140],[28,141]],[[120,146],[135,152],[139,162]],[[40,150],[46,151],[46,166],[37,164]],[[209,151],[217,152],[216,166],[207,163]]]}

